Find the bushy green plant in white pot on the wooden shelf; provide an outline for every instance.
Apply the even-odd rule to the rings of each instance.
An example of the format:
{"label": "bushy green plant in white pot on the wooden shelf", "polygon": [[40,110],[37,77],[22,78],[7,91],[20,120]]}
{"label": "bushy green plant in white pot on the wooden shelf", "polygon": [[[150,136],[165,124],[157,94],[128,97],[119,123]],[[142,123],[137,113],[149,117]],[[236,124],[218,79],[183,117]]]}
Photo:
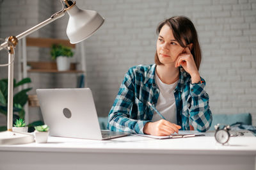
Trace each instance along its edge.
{"label": "bushy green plant in white pot on the wooden shelf", "polygon": [[51,48],[52,59],[56,60],[59,71],[70,69],[70,58],[74,55],[70,47],[54,44]]}

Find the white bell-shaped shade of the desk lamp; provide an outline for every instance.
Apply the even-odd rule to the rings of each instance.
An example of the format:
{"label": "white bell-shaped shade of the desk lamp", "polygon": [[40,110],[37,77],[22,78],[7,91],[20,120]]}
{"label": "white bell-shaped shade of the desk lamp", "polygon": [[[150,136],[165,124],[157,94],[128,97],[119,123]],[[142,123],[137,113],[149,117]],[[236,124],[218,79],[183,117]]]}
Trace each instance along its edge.
{"label": "white bell-shaped shade of the desk lamp", "polygon": [[91,10],[80,10],[76,5],[67,12],[69,15],[67,36],[70,43],[79,43],[89,38],[104,22],[99,13]]}

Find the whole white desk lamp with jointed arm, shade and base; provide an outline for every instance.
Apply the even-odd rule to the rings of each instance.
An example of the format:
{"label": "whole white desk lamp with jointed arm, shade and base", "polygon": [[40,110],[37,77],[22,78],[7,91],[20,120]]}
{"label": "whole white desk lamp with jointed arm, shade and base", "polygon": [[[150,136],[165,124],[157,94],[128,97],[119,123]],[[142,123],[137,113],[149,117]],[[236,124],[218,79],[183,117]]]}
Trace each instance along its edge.
{"label": "whole white desk lamp with jointed arm, shade and base", "polygon": [[[7,113],[7,131],[0,132],[0,144],[22,144],[32,143],[34,141],[33,135],[25,133],[12,132],[13,124],[13,61],[15,58],[15,46],[18,40],[30,35],[41,27],[50,24],[56,19],[60,19],[65,15],[69,15],[67,36],[70,43],[79,43],[90,37],[103,24],[104,19],[99,13],[91,10],[80,10],[76,6],[76,1],[60,0],[62,10],[54,13],[49,19],[31,27],[27,31],[20,33],[17,36],[9,36],[6,41],[0,45],[0,50],[8,50],[8,113]],[[3,65],[2,65],[3,66]]]}

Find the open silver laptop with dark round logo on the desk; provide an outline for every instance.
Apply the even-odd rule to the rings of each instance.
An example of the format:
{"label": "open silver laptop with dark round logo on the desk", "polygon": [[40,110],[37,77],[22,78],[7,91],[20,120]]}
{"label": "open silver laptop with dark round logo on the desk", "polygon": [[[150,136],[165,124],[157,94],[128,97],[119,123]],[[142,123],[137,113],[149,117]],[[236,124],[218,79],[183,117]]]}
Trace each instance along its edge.
{"label": "open silver laptop with dark round logo on the desk", "polygon": [[100,130],[90,88],[36,89],[36,94],[51,136],[106,140],[131,134]]}

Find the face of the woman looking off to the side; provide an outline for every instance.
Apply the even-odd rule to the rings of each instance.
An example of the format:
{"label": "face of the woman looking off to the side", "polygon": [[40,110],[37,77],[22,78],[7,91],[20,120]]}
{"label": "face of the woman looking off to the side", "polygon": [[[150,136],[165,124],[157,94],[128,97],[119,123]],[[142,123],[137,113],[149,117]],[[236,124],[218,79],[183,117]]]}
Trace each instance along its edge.
{"label": "face of the woman looking off to the side", "polygon": [[175,64],[179,54],[184,50],[175,40],[172,29],[168,25],[164,25],[159,33],[156,43],[157,56],[163,65]]}

